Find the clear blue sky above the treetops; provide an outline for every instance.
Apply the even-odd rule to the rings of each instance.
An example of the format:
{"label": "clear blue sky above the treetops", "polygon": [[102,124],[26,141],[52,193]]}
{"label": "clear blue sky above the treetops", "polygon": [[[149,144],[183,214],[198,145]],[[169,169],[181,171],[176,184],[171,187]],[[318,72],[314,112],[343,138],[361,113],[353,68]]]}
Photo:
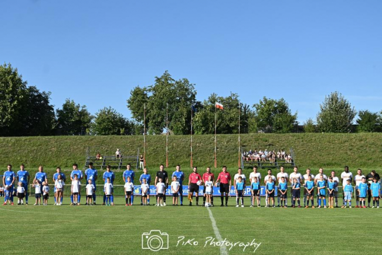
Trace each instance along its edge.
{"label": "clear blue sky above the treetops", "polygon": [[341,92],[382,110],[382,1],[1,1],[0,61],[95,114],[165,70],[197,99],[285,98],[302,124]]}

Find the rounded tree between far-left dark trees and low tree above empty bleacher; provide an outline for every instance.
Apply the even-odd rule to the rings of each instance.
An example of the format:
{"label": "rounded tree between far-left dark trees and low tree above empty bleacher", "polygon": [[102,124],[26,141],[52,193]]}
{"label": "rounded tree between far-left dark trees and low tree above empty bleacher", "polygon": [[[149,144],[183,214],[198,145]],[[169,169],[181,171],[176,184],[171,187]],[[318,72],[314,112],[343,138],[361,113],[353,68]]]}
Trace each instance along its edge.
{"label": "rounded tree between far-left dark trees and low tree above empty bleacher", "polygon": [[85,134],[93,118],[85,105],[66,99],[62,108],[57,109],[57,131],[63,135]]}

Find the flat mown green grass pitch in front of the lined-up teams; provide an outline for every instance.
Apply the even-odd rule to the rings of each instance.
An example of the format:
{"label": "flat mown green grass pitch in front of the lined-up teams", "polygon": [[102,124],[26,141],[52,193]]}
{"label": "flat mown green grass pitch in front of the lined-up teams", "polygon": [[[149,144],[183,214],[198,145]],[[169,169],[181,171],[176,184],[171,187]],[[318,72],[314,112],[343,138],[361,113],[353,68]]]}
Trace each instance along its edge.
{"label": "flat mown green grass pitch in front of the lined-up teams", "polygon": [[[1,254],[381,254],[382,209],[377,208],[251,208],[249,199],[236,208],[231,197],[228,207],[210,208],[221,238],[237,243],[224,251],[211,241],[205,245],[209,237],[218,240],[209,209],[202,206],[175,207],[171,197],[165,207],[137,205],[139,197],[134,206],[122,205],[121,197],[115,206],[70,206],[69,201],[1,205]],[[168,250],[142,249],[142,234],[155,229],[168,234]],[[186,244],[189,239],[193,245]],[[253,246],[244,252],[238,247],[254,239],[261,243],[255,252]]]}

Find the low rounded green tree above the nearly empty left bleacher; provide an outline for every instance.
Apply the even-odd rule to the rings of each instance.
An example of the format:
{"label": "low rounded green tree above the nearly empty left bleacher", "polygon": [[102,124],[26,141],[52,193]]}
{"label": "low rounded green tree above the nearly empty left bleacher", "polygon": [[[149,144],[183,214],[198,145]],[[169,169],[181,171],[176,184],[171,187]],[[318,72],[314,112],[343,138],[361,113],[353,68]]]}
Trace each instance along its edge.
{"label": "low rounded green tree above the nearly empty left bleacher", "polygon": [[132,124],[115,109],[104,107],[95,114],[92,133],[97,135],[131,134]]}

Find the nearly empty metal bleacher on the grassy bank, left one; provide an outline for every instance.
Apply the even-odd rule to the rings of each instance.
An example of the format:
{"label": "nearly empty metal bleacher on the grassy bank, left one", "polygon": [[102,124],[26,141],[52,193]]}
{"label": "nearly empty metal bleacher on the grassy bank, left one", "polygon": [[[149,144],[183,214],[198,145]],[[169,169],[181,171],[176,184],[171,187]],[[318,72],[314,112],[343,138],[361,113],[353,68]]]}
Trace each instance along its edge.
{"label": "nearly empty metal bleacher on the grassy bank, left one", "polygon": [[121,169],[127,164],[131,164],[132,168],[138,169],[139,167],[139,150],[136,156],[124,156],[116,158],[116,156],[102,156],[101,159],[96,159],[95,156],[90,156],[90,148],[88,147],[86,151],[86,160],[85,160],[85,169],[89,167],[89,163],[93,162],[95,168],[106,168],[107,165],[110,165],[112,168]]}

